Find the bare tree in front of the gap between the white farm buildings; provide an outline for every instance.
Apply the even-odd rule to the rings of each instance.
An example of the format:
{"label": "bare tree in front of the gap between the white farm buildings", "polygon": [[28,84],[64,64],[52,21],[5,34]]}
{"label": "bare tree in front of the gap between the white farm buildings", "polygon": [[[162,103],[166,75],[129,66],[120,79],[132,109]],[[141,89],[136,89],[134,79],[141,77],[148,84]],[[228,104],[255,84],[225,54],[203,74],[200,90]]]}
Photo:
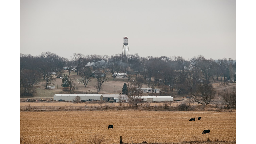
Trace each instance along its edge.
{"label": "bare tree in front of the gap between the white farm buildings", "polygon": [[128,83],[128,97],[129,102],[131,102],[132,107],[138,108],[138,106],[143,105],[140,103],[143,92],[141,90],[142,83],[139,81],[133,81]]}

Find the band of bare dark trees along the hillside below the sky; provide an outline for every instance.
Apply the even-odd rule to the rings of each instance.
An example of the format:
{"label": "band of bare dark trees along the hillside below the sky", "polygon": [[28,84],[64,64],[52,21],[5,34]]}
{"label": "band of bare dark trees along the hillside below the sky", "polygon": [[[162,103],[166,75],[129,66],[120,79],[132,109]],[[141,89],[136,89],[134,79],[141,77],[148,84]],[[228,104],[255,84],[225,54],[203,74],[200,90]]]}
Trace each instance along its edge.
{"label": "band of bare dark trees along the hillside below the sky", "polygon": [[[211,81],[225,83],[236,81],[236,62],[223,58],[218,60],[205,59],[202,55],[185,60],[180,56],[173,57],[140,57],[138,53],[129,57],[122,54],[115,55],[84,55],[73,53],[71,59],[60,57],[51,52],[43,52],[38,56],[20,54],[20,88],[21,95],[33,95],[34,85],[43,79],[44,86],[51,85],[56,77],[63,77],[63,69],[69,75],[75,71],[81,76],[81,82],[90,82],[92,72],[97,77],[95,86],[98,92],[106,73],[110,73],[113,80],[120,72],[125,72],[130,81],[132,78],[146,83],[149,88],[159,88],[160,94],[167,91],[177,94],[196,92],[200,85],[209,86]],[[56,77],[51,75],[55,72]]]}

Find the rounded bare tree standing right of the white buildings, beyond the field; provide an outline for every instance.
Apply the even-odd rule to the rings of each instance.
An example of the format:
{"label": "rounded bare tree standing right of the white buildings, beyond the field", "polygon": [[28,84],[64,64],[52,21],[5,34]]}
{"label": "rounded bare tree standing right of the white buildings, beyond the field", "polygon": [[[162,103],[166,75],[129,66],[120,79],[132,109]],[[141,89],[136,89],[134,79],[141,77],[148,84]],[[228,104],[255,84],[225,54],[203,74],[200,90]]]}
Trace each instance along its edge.
{"label": "rounded bare tree standing right of the white buildings, beyond the field", "polygon": [[203,106],[210,104],[216,94],[211,84],[200,83],[196,94],[192,94],[192,101]]}

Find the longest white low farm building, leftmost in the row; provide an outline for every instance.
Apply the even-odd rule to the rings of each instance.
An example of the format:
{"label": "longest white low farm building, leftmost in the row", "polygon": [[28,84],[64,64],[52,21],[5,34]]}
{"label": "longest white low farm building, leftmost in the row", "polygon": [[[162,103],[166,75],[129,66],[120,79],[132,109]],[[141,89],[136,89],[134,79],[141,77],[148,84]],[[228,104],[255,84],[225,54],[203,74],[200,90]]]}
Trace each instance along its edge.
{"label": "longest white low farm building, leftmost in the row", "polygon": [[81,100],[100,100],[101,94],[55,94],[53,96],[53,100],[64,100],[64,101],[72,101],[75,100],[76,96],[79,96]]}

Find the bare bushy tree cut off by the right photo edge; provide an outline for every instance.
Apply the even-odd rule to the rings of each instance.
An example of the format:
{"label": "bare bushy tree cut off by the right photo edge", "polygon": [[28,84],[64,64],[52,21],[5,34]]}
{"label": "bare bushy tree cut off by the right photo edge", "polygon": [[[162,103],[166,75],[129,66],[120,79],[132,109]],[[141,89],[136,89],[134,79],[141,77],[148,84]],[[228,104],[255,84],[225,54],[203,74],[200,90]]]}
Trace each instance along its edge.
{"label": "bare bushy tree cut off by the right photo edge", "polygon": [[228,109],[236,108],[236,88],[233,88],[233,90],[224,89],[219,94]]}

